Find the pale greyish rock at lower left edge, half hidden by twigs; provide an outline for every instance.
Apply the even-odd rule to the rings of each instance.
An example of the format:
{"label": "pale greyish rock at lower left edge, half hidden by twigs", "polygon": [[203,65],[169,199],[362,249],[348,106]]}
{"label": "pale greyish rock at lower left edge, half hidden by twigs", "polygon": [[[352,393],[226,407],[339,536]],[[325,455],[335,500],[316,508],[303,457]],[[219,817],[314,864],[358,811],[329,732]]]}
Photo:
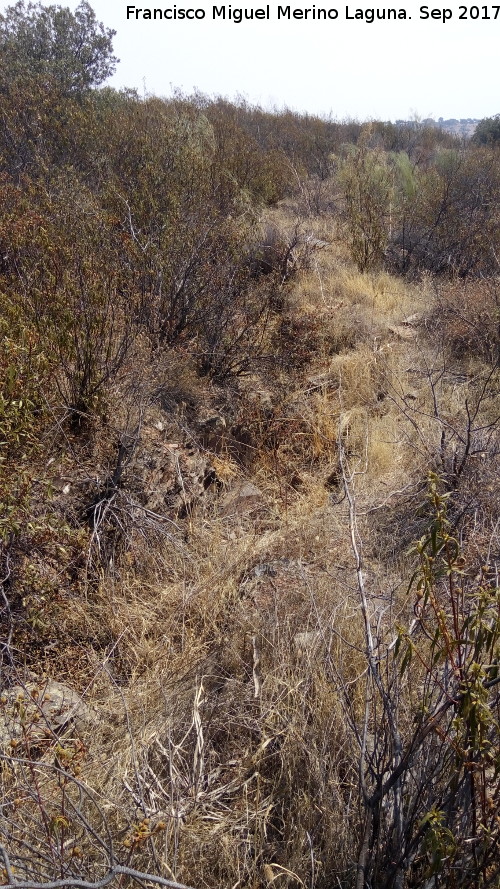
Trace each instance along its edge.
{"label": "pale greyish rock at lower left edge, half hidden by twigs", "polygon": [[78,692],[62,682],[27,682],[14,685],[0,697],[0,746],[28,737],[36,744],[67,729],[80,735],[95,724],[96,715]]}

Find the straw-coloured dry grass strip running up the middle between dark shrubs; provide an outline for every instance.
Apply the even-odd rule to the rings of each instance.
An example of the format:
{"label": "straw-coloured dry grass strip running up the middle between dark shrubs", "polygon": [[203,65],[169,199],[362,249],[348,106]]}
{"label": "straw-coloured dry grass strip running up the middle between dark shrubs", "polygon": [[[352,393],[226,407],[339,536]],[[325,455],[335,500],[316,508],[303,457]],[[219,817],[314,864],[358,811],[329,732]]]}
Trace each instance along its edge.
{"label": "straw-coloured dry grass strip running up the middle between dark shrubs", "polygon": [[[320,312],[313,364],[291,391],[272,393],[272,417],[266,399],[261,416],[252,409],[259,517],[235,534],[222,497],[197,509],[188,541],[169,549],[154,584],[118,585],[100,604],[100,622],[123,634],[129,678],[110,689],[123,734],[118,741],[113,731],[108,777],[96,781],[120,811],[144,798],[153,821],[167,818],[150,847],[166,873],[197,886],[278,878],[299,886],[314,877],[319,887],[350,868],[356,754],[338,688],[353,683],[351,707],[361,713],[362,635],[344,506],[325,480],[339,435],[365,467],[366,508],[405,478],[401,434],[384,403],[397,360],[378,351],[376,332],[406,307],[387,276],[328,267],[315,306],[315,274],[293,295],[302,317]],[[229,490],[241,478],[230,453],[214,465]],[[377,563],[370,571],[382,602],[398,577]],[[106,736],[98,746],[109,749]],[[139,860],[151,848],[138,849]]]}

